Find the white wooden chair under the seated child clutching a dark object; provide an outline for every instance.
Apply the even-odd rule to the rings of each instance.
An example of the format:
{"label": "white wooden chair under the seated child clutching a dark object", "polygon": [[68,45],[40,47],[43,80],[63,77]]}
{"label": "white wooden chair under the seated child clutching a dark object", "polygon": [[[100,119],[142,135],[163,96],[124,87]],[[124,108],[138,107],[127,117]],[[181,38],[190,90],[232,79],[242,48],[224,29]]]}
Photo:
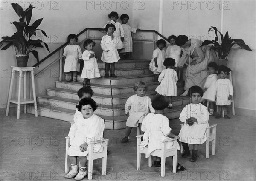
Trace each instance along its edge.
{"label": "white wooden chair under the seated child clutching a dark object", "polygon": [[[184,124],[180,124],[181,127]],[[217,124],[212,124],[211,126],[206,128],[206,135],[207,135],[207,141],[206,141],[206,151],[205,151],[205,158],[209,158],[209,151],[210,151],[210,142],[212,141],[212,155],[215,155],[216,151],[216,127]],[[212,132],[211,132],[212,128]],[[183,153],[183,146],[180,144],[180,153]]]}

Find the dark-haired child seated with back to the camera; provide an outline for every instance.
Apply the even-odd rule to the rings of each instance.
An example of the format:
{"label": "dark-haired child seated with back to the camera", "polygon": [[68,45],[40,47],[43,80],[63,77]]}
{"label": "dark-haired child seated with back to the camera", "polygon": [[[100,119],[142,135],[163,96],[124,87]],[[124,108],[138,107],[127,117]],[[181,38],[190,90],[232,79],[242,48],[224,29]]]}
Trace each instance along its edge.
{"label": "dark-haired child seated with back to the camera", "polygon": [[[146,153],[146,158],[149,157],[150,153],[154,150],[160,150],[161,141],[167,138],[177,138],[180,137],[171,133],[171,128],[169,126],[169,119],[163,116],[164,109],[168,106],[168,102],[165,101],[165,97],[162,95],[157,95],[152,99],[152,107],[154,108],[154,113],[149,113],[142,122],[141,130],[144,131],[143,141],[140,144],[140,148],[148,146],[148,151]],[[166,144],[166,149],[172,148],[172,142]],[[180,150],[178,145],[177,150]],[[178,161],[178,158],[177,158]],[[155,167],[161,166],[161,158],[156,157],[154,162]],[[186,170],[183,166],[177,163],[177,172]]]}

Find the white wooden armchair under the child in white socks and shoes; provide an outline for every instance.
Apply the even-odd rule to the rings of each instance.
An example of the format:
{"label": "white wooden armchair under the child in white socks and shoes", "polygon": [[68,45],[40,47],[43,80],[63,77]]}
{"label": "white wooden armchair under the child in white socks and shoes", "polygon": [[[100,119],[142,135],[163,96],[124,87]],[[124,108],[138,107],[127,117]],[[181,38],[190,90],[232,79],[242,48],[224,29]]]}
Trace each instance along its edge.
{"label": "white wooden armchair under the child in white socks and shoes", "polygon": [[[66,139],[66,154],[65,154],[65,173],[69,172],[69,163],[68,163],[68,155],[67,151],[70,147],[70,138],[68,136],[65,137]],[[103,152],[93,152],[93,144],[102,143]],[[97,141],[92,141],[88,143],[87,149],[89,149],[88,153],[88,180],[93,178],[93,160],[102,158],[102,175],[106,175],[107,170],[107,148],[108,148],[108,139],[102,139]]]}

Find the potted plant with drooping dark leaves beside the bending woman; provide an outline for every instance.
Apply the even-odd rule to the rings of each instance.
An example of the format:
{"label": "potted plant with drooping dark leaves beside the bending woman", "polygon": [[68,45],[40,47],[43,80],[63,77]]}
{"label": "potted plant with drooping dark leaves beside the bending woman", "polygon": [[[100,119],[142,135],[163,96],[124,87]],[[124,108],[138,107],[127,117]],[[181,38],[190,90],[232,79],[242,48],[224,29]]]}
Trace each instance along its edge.
{"label": "potted plant with drooping dark leaves beside the bending woman", "polygon": [[[216,35],[215,40],[212,40],[212,41],[205,40],[201,46],[213,44],[211,46],[211,49],[213,49],[215,51],[215,54],[217,55],[218,65],[227,65],[227,60],[228,60],[227,56],[230,50],[233,48],[241,48],[244,50],[252,51],[250,47],[245,44],[244,40],[232,39],[231,37],[229,37],[228,32],[226,32],[225,36],[223,37],[223,34],[220,31],[218,31],[216,27],[211,26],[211,28],[209,28],[208,30],[208,33],[210,31],[215,31],[215,35]],[[221,44],[219,43],[217,32],[220,34]],[[234,45],[238,45],[238,46],[233,47]]]}

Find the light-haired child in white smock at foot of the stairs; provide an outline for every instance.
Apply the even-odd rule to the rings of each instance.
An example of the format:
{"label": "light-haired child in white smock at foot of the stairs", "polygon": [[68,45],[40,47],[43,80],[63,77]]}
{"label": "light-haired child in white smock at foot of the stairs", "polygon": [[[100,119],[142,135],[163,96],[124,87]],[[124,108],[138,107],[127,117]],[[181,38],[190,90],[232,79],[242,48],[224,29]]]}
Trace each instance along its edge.
{"label": "light-haired child in white smock at foot of the stairs", "polygon": [[138,127],[139,121],[142,121],[149,111],[150,113],[154,113],[151,99],[146,96],[147,88],[145,82],[136,82],[134,85],[136,94],[129,97],[125,103],[125,115],[128,119],[126,121],[125,137],[122,139],[122,143],[128,142],[128,136],[131,134],[132,128]]}

